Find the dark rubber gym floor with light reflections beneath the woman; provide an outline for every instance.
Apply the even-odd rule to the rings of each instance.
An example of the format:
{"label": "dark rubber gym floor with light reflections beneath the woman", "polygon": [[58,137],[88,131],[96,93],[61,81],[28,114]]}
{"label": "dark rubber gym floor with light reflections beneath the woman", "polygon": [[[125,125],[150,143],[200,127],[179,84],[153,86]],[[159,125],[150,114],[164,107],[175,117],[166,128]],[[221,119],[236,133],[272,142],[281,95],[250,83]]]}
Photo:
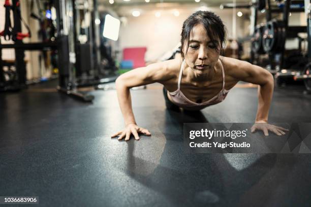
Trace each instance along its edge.
{"label": "dark rubber gym floor with light reflections beneath the woman", "polygon": [[[275,88],[270,122],[311,122],[311,95],[297,87]],[[110,138],[123,128],[116,91],[90,93],[92,103],[40,85],[0,94],[1,196],[39,196],[39,206],[311,205],[310,154],[183,152],[183,122],[253,122],[256,88],[233,88],[196,115],[166,110],[158,85],[132,90],[152,136],[129,142]]]}

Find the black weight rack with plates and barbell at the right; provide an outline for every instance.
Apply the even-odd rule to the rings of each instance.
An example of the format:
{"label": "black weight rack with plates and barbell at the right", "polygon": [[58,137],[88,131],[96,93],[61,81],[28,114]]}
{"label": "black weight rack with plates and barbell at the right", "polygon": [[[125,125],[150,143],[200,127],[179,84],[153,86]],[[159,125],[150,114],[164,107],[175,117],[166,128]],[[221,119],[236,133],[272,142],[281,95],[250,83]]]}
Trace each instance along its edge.
{"label": "black weight rack with plates and barbell at the right", "polygon": [[[251,50],[251,62],[253,63],[258,55],[268,55],[269,64],[267,70],[274,74],[276,83],[281,78],[293,78],[294,80],[304,80],[307,90],[311,90],[311,64],[308,63],[304,70],[299,67],[295,69],[284,68],[286,66],[285,61],[285,42],[287,38],[299,38],[299,32],[307,33],[308,52],[307,55],[301,57],[303,66],[307,63],[307,58],[310,61],[311,57],[311,34],[310,34],[310,2],[305,1],[291,1],[285,0],[284,4],[280,4],[278,1],[278,7],[272,6],[270,0],[257,0],[250,4],[227,4],[221,5],[221,8],[251,8],[251,26],[252,26],[252,50]],[[258,24],[258,12],[265,12],[266,23]],[[306,14],[307,26],[289,26],[288,19],[289,13],[301,13]],[[272,19],[273,13],[282,13],[282,20]],[[301,39],[299,39],[300,48]],[[300,48],[301,49],[301,48]]]}

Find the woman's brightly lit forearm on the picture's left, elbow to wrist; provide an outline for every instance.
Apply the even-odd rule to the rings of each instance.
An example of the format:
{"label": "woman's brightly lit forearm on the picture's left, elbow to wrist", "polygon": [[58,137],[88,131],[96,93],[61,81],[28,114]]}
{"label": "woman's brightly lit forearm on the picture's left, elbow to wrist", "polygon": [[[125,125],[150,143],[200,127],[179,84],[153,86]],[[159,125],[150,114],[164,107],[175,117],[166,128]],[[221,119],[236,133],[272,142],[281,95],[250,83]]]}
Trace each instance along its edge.
{"label": "woman's brightly lit forearm on the picture's left, elbow to wrist", "polygon": [[130,88],[121,83],[121,80],[116,80],[116,90],[118,95],[119,106],[125,121],[125,125],[136,124],[133,109]]}

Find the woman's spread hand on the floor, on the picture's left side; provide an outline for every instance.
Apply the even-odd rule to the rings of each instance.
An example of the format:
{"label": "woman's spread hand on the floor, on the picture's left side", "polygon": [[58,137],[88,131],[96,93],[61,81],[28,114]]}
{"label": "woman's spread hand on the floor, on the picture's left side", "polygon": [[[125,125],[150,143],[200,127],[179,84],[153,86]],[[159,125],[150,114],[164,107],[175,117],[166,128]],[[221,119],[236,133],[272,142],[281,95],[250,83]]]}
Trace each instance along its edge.
{"label": "woman's spread hand on the floor, on the picture's left side", "polygon": [[139,140],[138,133],[143,133],[145,135],[151,135],[148,129],[137,126],[136,124],[128,124],[125,129],[112,134],[111,138],[119,136],[118,140],[122,140],[125,137],[125,141],[130,140],[131,134],[134,135],[135,140]]}

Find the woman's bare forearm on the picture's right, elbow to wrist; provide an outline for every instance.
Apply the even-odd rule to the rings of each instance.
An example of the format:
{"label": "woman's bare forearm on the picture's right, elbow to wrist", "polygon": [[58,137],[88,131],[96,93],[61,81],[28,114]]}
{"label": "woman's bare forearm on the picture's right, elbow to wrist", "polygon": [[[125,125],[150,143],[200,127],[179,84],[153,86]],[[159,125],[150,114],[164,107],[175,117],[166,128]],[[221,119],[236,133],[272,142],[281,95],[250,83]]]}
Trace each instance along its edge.
{"label": "woman's bare forearm on the picture's right, elbow to wrist", "polygon": [[256,122],[268,122],[269,108],[273,95],[273,77],[264,85],[258,86],[258,110],[256,115]]}

